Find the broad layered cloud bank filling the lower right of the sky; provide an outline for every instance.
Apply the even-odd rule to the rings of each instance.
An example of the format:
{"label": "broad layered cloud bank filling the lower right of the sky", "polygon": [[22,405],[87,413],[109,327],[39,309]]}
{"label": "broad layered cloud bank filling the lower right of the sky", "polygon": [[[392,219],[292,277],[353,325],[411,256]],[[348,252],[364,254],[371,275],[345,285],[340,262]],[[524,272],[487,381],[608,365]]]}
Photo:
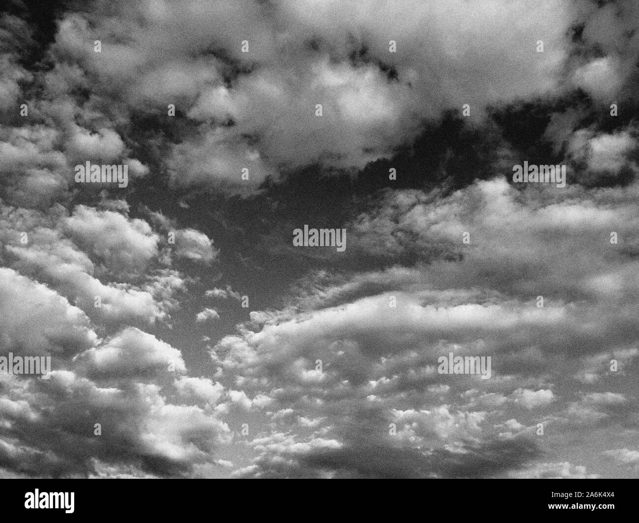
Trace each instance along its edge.
{"label": "broad layered cloud bank filling the lower right of the sky", "polygon": [[[387,193],[347,224],[349,254],[424,262],[344,284],[309,275],[295,307],[254,314],[215,345],[221,379],[239,374],[247,394],[273,401],[271,428],[247,442],[260,455],[237,474],[595,477],[544,463],[539,424],[566,445],[584,425],[631,434],[636,408],[610,361],[636,372],[637,190],[519,191],[494,179],[446,197]],[[491,356],[491,379],[439,374],[449,352]],[[326,441],[334,448],[319,450]],[[511,445],[522,459],[484,466]]]}

